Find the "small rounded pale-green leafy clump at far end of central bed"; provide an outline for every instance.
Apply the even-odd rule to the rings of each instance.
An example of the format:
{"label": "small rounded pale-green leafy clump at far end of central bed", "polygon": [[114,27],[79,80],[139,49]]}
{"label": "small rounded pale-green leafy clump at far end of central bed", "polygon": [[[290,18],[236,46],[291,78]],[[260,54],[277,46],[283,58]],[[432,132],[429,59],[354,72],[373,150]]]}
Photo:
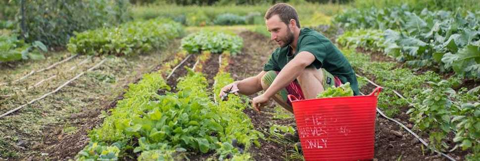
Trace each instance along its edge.
{"label": "small rounded pale-green leafy clump at far end of central bed", "polygon": [[218,31],[199,31],[182,39],[181,48],[189,53],[223,53],[229,51],[232,54],[240,53],[243,48],[243,39],[238,35],[229,35]]}

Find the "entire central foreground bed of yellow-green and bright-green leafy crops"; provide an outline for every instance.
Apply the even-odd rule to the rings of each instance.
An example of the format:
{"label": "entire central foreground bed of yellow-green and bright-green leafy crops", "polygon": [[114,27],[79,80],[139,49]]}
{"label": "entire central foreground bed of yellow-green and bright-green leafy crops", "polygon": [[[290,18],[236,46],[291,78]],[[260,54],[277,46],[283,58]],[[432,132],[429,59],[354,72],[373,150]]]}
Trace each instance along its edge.
{"label": "entire central foreground bed of yellow-green and bright-green leafy crops", "polygon": [[[169,89],[157,72],[130,85],[125,99],[111,114],[104,113],[102,127],[90,133],[91,143],[77,159],[118,159],[132,150],[128,147],[140,153],[139,160],[171,160],[185,157],[183,152],[212,150],[220,160],[248,159],[245,148],[251,143],[259,146],[256,140],[263,134],[253,130],[249,118],[241,112],[246,105],[236,96],[215,104],[203,74],[188,70],[188,75],[179,79],[178,93],[157,95],[156,89]],[[223,70],[215,80],[215,92],[233,81]]]}

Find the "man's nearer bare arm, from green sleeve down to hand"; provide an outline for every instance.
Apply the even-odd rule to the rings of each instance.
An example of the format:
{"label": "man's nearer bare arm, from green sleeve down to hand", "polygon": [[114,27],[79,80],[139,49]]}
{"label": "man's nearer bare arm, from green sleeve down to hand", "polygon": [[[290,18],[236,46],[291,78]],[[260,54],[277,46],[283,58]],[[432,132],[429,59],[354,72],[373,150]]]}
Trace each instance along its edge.
{"label": "man's nearer bare arm, from green sleeve down to hand", "polygon": [[283,88],[287,87],[290,82],[295,80],[313,61],[315,61],[315,56],[310,52],[300,52],[298,53],[290,62],[285,65],[285,67],[280,71],[275,80],[272,82],[272,85],[260,96],[253,98],[252,107],[260,112],[262,107],[266,106],[268,100],[272,98],[276,93],[278,93]]}

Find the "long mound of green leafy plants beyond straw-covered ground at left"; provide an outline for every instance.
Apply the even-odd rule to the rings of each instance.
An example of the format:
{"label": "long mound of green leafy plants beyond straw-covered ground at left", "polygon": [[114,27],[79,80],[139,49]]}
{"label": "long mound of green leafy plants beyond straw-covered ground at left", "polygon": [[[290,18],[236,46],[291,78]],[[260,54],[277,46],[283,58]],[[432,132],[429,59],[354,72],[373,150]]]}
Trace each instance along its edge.
{"label": "long mound of green leafy plants beyond straw-covered ground at left", "polygon": [[79,54],[131,55],[165,46],[168,40],[183,35],[181,24],[167,19],[152,19],[76,33],[68,51]]}

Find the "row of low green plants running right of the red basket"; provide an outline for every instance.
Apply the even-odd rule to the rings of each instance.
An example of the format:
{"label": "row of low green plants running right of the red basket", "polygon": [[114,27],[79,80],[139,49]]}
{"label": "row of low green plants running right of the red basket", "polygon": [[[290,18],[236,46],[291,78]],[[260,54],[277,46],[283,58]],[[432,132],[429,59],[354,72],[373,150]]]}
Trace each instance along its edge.
{"label": "row of low green plants running right of the red basket", "polygon": [[[442,80],[433,71],[417,75],[410,69],[396,67],[396,63],[371,61],[370,56],[348,49],[343,54],[357,72],[375,78],[385,88],[379,97],[379,107],[385,113],[391,116],[399,112],[398,107],[410,108],[405,112],[410,114],[413,128],[421,130],[421,136],[429,136],[430,148],[445,151],[461,147],[472,151],[468,160],[480,157],[479,97],[467,94],[465,87],[455,92],[452,87],[457,87],[461,79]],[[406,99],[395,96],[392,90]],[[453,141],[457,144],[446,144],[448,134],[455,135]]]}

